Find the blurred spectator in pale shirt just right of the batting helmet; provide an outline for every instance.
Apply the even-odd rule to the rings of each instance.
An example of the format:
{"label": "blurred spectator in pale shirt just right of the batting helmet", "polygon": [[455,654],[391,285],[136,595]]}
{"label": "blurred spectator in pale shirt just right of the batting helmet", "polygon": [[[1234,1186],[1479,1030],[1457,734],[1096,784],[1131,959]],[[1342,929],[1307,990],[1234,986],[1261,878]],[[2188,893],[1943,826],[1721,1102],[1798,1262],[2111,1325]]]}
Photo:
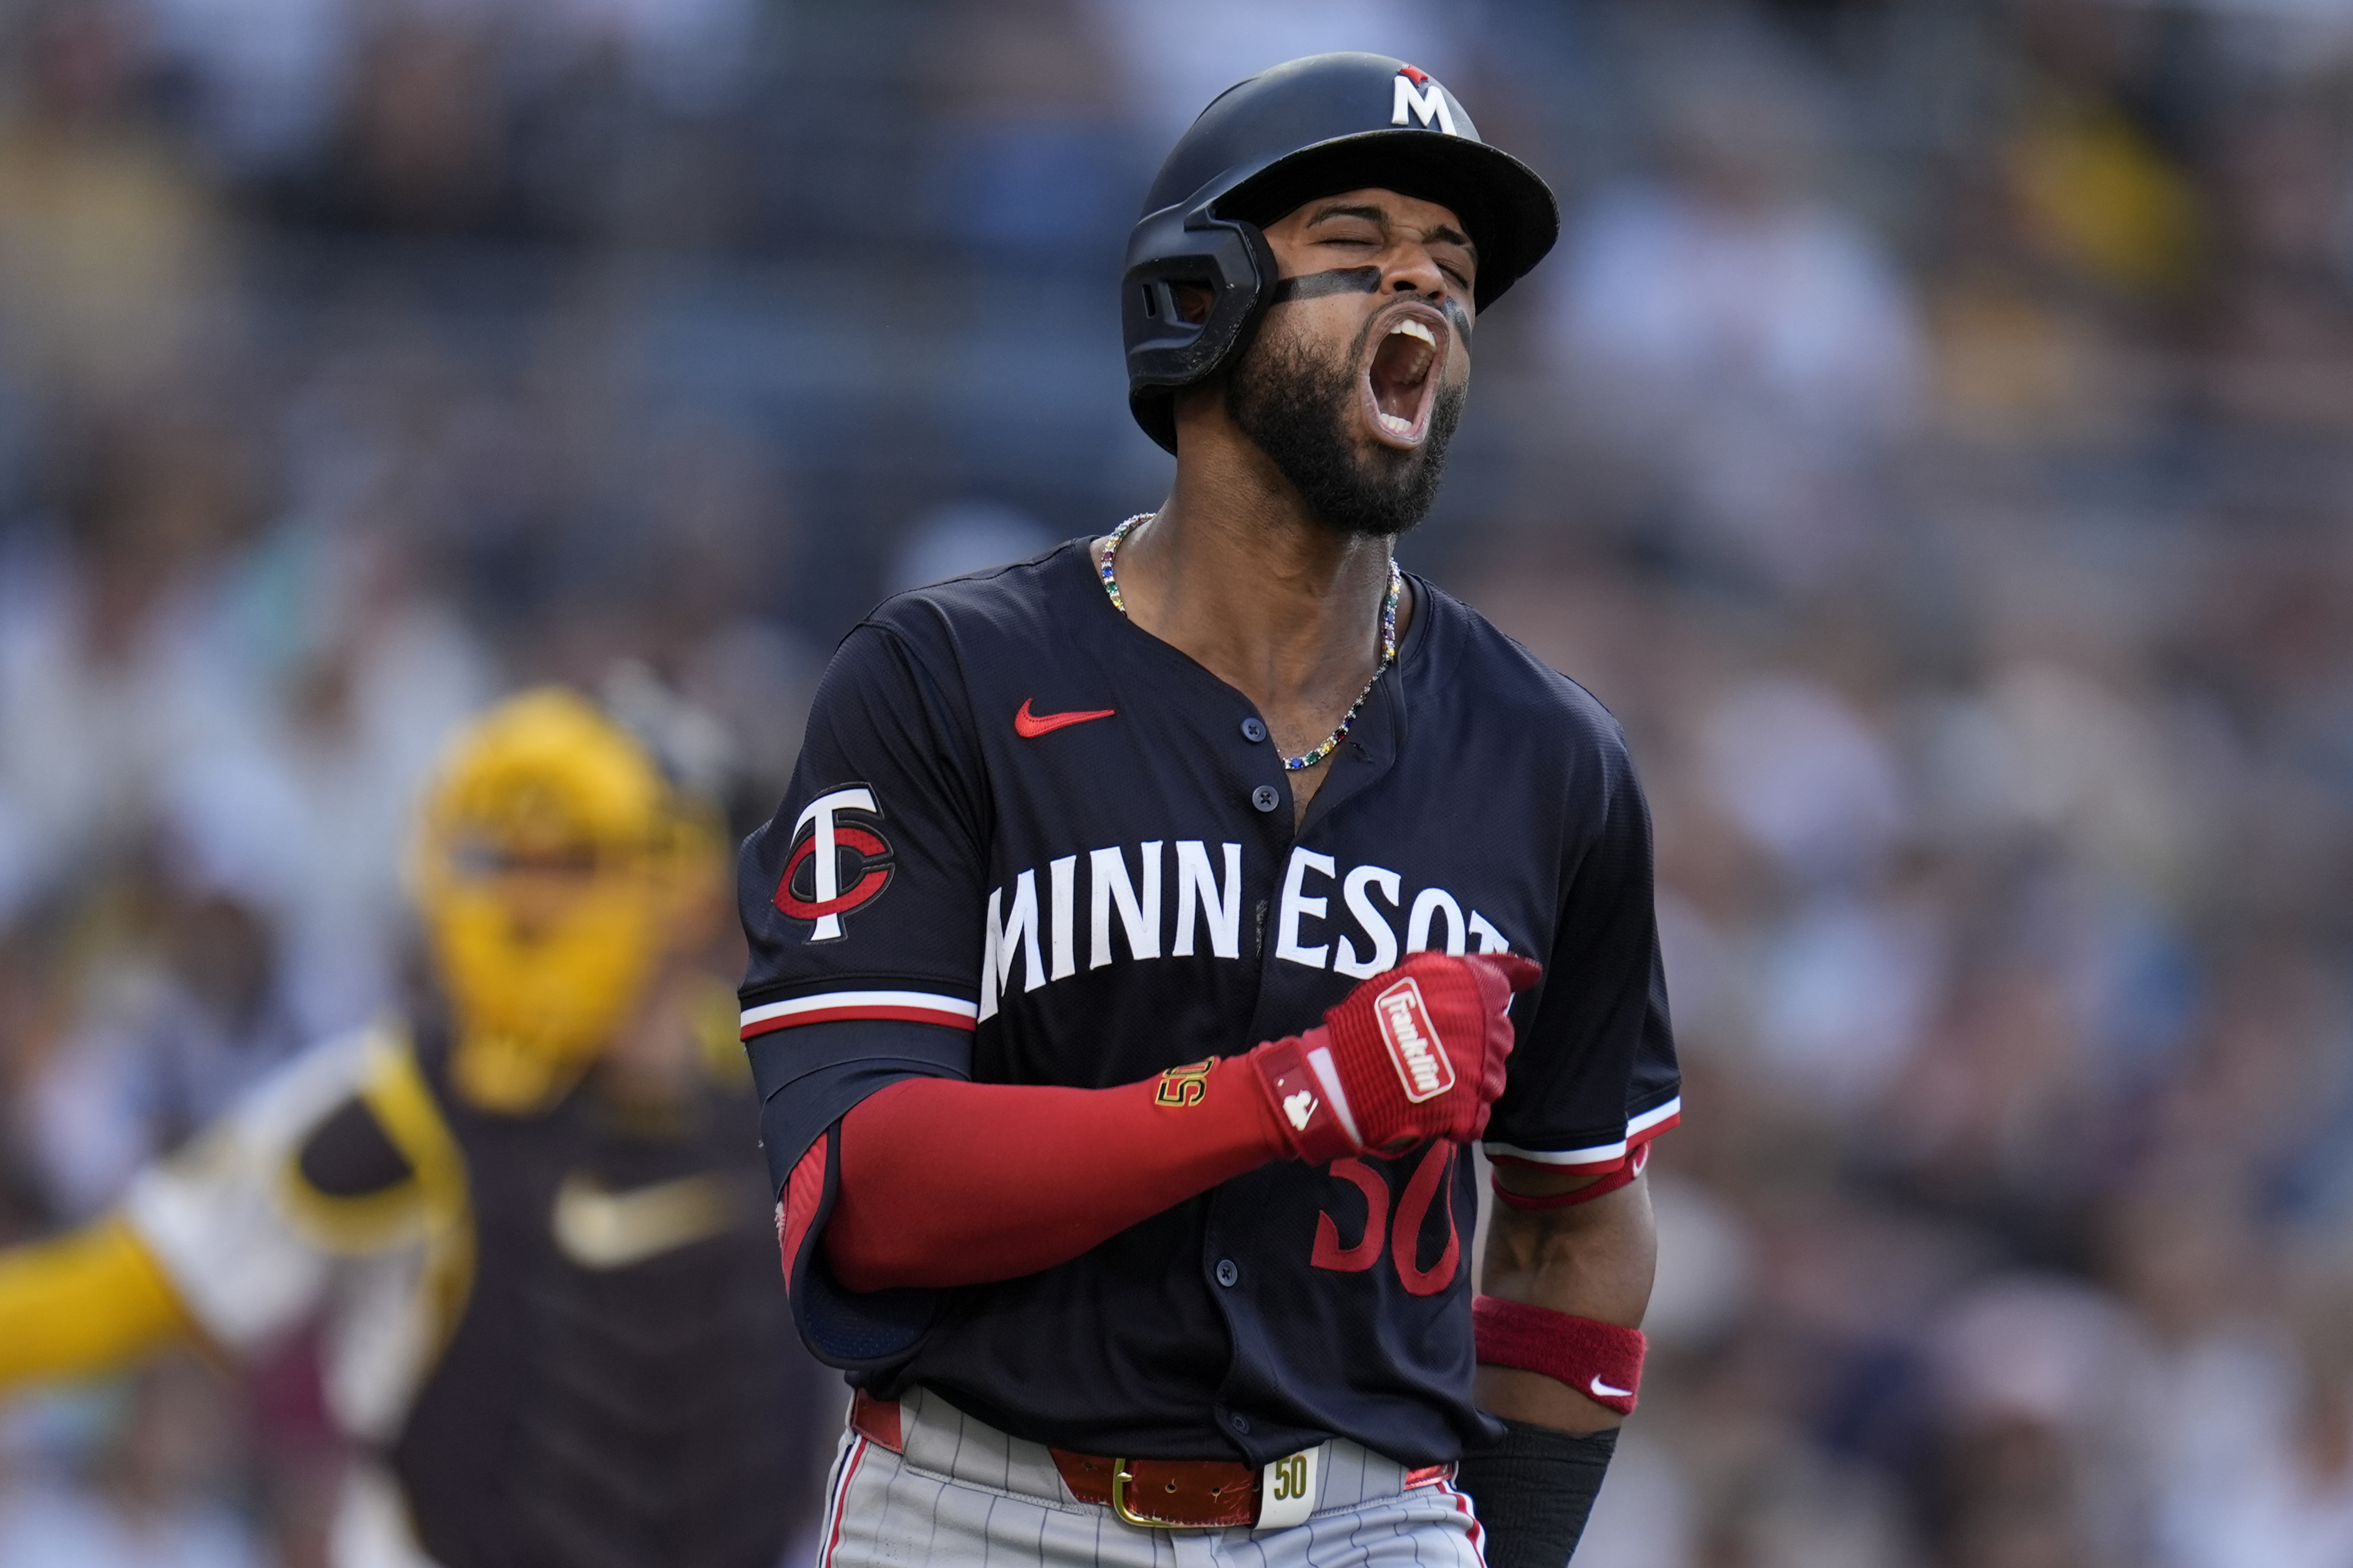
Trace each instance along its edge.
{"label": "blurred spectator in pale shirt just right of the batting helmet", "polygon": [[1600,190],[1555,273],[1581,477],[1722,571],[1821,588],[1885,527],[1873,480],[1922,376],[1908,289],[1821,200],[1791,73],[1689,63],[1661,120],[1659,174]]}

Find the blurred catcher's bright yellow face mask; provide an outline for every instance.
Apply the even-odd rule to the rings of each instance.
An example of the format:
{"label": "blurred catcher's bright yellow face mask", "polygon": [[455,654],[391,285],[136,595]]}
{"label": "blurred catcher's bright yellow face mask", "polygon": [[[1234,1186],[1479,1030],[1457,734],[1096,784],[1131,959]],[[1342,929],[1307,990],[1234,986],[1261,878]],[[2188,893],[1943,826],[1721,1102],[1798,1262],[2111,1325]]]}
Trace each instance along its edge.
{"label": "blurred catcher's bright yellow face mask", "polygon": [[569,1091],[715,875],[711,813],[586,698],[546,686],[468,726],[414,858],[456,1091],[508,1114]]}

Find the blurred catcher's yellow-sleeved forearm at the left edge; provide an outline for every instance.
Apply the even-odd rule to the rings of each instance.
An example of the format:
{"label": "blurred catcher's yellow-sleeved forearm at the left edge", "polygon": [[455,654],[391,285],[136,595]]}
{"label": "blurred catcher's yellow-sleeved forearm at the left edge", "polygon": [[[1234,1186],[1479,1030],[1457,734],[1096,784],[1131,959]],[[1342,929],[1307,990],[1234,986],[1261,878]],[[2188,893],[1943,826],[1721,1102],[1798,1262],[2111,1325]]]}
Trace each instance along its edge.
{"label": "blurred catcher's yellow-sleeved forearm at the left edge", "polygon": [[122,1220],[0,1253],[0,1392],[108,1371],[186,1333],[179,1298]]}

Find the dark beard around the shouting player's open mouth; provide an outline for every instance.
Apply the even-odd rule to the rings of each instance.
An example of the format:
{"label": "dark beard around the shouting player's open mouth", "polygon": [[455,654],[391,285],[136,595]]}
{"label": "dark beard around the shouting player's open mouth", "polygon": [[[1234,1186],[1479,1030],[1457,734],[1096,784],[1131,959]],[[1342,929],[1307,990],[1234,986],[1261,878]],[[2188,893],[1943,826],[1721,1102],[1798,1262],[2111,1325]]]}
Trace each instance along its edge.
{"label": "dark beard around the shouting player's open mouth", "polygon": [[1464,388],[1438,388],[1421,447],[1374,447],[1365,454],[1351,433],[1351,414],[1362,397],[1362,350],[1355,343],[1351,353],[1327,360],[1294,336],[1261,331],[1226,381],[1226,409],[1325,524],[1341,534],[1398,536],[1421,522],[1438,498],[1447,442],[1464,414]]}

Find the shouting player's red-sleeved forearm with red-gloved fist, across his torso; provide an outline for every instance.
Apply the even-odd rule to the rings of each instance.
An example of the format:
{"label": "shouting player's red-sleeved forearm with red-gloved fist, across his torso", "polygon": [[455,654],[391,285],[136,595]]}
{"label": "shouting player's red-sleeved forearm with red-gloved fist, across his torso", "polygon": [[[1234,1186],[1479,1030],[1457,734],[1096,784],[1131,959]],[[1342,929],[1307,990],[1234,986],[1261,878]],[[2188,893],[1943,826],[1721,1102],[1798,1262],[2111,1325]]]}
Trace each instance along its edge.
{"label": "shouting player's red-sleeved forearm with red-gloved fist, across his torso", "polygon": [[852,1291],[1016,1279],[1273,1159],[1475,1138],[1539,973],[1417,952],[1313,1030],[1120,1088],[901,1079],[842,1117],[826,1260]]}

